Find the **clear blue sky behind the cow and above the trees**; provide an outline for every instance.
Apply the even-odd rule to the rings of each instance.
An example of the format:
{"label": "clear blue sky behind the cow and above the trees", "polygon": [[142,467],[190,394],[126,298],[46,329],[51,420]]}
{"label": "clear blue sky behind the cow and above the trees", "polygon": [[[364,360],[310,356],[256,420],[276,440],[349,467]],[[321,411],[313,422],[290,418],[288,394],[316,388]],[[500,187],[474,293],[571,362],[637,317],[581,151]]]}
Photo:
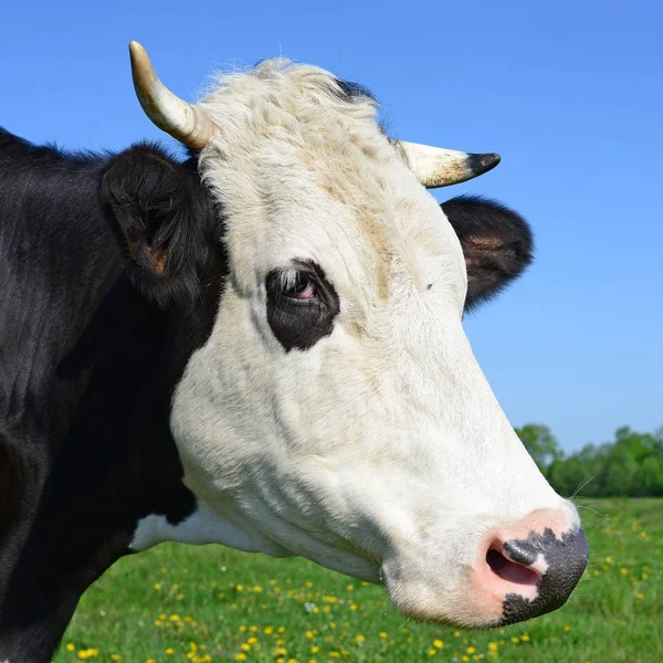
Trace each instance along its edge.
{"label": "clear blue sky behind the cow and above the trees", "polygon": [[135,101],[127,43],[192,99],[224,64],[284,54],[368,86],[401,138],[498,151],[435,193],[525,214],[537,260],[467,319],[514,425],[567,450],[663,425],[660,3],[11,2],[0,125],[33,141],[168,141]]}

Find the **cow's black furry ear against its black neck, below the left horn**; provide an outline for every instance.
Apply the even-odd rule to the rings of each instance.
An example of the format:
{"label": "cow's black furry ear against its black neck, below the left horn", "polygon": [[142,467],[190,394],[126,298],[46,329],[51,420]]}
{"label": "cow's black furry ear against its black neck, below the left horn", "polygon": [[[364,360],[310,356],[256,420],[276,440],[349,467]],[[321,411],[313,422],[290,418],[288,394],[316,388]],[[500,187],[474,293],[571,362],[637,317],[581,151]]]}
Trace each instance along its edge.
{"label": "cow's black furry ear against its black neck, below the left horn", "polygon": [[136,145],[109,159],[102,197],[135,285],[160,305],[191,301],[213,244],[213,206],[194,167]]}

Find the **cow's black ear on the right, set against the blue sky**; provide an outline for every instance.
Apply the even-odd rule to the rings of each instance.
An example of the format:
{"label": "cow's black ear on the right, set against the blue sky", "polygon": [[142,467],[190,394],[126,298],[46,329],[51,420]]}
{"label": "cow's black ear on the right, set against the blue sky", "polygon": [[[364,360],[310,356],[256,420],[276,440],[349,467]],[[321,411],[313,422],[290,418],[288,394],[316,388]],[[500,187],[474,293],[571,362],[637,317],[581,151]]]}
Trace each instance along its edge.
{"label": "cow's black ear on the right, set against the blue sky", "polygon": [[465,311],[471,311],[497,295],[532,263],[532,230],[523,217],[491,200],[461,196],[441,207],[463,246]]}

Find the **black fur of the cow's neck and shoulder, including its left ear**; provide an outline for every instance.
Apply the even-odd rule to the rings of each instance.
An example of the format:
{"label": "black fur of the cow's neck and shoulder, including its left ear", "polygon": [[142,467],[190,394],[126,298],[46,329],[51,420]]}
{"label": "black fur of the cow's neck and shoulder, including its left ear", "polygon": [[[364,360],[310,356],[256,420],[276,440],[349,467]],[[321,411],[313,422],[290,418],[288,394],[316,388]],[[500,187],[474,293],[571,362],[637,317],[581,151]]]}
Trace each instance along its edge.
{"label": "black fur of the cow's neck and shoulder, including its left ear", "polygon": [[137,520],[193,509],[168,414],[213,324],[219,234],[193,162],[0,130],[0,661],[50,661]]}

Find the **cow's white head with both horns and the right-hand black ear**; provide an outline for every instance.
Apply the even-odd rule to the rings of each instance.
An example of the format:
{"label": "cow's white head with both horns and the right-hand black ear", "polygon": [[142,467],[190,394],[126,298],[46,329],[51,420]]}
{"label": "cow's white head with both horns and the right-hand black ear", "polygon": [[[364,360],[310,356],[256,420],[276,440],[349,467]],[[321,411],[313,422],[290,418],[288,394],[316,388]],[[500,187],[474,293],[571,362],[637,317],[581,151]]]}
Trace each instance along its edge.
{"label": "cow's white head with both horns and the right-hand black ear", "polygon": [[172,401],[199,508],[170,537],[304,556],[465,627],[562,604],[587,561],[577,511],[462,326],[527,264],[527,227],[422,186],[496,158],[392,141],[369,96],[313,66],[264,62],[189,106],[133,55],[148,115],[197,150],[228,265]]}

